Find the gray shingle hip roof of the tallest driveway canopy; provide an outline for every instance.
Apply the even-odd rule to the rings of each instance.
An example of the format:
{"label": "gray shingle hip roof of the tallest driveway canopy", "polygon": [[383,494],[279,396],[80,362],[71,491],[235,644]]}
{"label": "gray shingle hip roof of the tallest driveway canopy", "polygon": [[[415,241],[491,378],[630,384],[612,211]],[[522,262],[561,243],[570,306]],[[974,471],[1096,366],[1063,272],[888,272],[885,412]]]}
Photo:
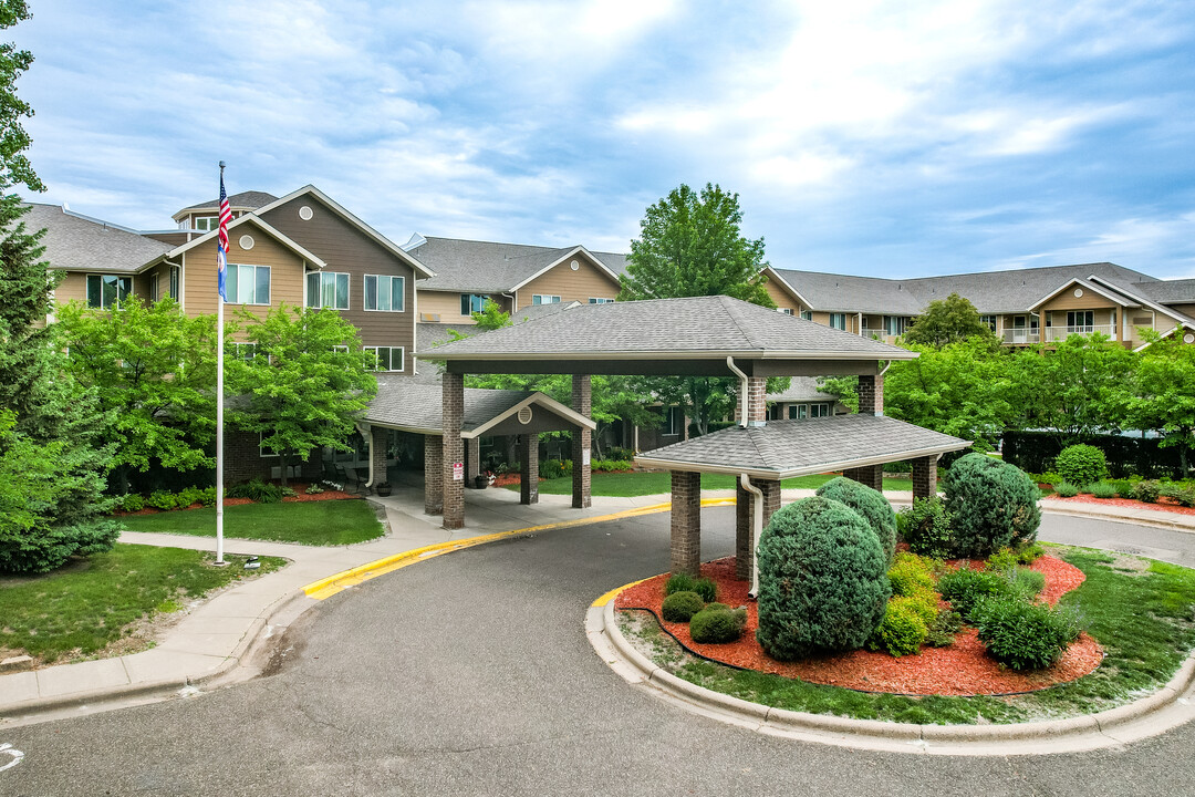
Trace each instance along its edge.
{"label": "gray shingle hip roof of the tallest driveway canopy", "polygon": [[[780,355],[808,358],[907,360],[878,341],[777,313],[729,296],[582,305],[566,312],[456,341],[417,356],[440,360],[638,358]],[[797,357],[799,358],[799,357]]]}

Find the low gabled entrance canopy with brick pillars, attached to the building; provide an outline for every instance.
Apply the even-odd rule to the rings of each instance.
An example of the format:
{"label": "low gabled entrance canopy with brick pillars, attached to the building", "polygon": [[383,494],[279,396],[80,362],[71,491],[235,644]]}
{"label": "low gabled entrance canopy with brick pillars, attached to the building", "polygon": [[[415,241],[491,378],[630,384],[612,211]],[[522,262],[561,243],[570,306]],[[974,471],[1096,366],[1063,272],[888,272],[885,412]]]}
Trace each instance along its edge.
{"label": "low gabled entrance canopy with brick pillars, attached to the building", "polygon": [[[443,427],[440,399],[442,390],[436,385],[421,385],[407,378],[378,380],[378,394],[366,410],[362,425],[368,427],[369,483],[373,486],[385,480],[386,433],[390,429],[423,435],[423,510],[429,515],[443,511]],[[468,448],[466,462],[461,462],[451,476],[464,480],[480,473],[482,436],[514,436],[522,441],[520,448],[520,502],[533,504],[539,501],[539,433],[570,431],[592,433],[595,428],[590,418],[576,412],[538,391],[465,390],[461,397],[464,411],[455,442],[464,450]],[[464,493],[461,493],[464,501]]]}

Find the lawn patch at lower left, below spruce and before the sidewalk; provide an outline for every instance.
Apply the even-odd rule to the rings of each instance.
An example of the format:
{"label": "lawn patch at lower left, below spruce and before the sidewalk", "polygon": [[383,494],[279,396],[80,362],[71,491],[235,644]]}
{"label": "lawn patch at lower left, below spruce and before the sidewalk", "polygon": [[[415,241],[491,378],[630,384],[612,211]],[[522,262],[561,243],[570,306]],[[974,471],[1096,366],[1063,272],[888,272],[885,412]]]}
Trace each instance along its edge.
{"label": "lawn patch at lower left, below spruce and before the sidewalk", "polygon": [[247,574],[284,564],[263,557],[259,570],[246,571],[245,557],[226,557],[225,568],[212,566],[213,558],[202,551],[117,544],[44,576],[2,578],[0,648],[47,662],[86,657],[125,637],[142,618],[177,612]]}

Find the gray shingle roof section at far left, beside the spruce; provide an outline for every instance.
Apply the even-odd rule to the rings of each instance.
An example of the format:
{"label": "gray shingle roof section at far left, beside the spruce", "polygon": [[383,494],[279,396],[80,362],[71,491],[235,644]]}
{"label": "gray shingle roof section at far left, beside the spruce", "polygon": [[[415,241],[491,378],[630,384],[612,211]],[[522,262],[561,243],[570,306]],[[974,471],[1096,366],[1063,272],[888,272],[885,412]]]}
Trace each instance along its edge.
{"label": "gray shingle roof section at far left, beside the spruce", "polygon": [[51,269],[134,274],[174,249],[124,227],[65,211],[56,204],[32,203],[23,217],[30,232],[45,228],[43,258]]}

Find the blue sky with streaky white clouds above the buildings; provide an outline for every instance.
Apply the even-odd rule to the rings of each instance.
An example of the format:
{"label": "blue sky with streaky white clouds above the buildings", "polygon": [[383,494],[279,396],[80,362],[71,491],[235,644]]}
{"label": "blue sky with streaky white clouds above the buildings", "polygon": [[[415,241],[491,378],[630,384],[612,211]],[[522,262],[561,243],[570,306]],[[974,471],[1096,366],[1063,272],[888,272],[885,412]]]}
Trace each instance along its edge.
{"label": "blue sky with streaky white clouds above the buildings", "polygon": [[681,182],[780,268],[1195,277],[1195,12],[31,0],[38,201],[137,228],[313,183],[411,233],[626,251]]}

